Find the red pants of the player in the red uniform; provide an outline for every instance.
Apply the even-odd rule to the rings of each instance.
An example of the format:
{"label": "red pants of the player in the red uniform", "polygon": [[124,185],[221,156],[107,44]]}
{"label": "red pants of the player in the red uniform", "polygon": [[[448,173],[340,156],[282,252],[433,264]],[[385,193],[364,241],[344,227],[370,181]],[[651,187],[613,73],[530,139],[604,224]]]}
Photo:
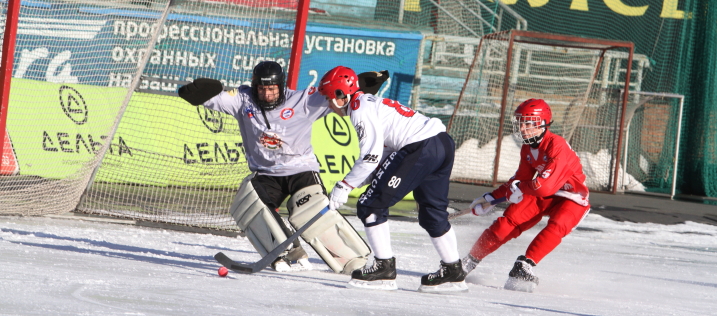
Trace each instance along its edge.
{"label": "red pants of the player in the red uniform", "polygon": [[508,240],[535,226],[543,216],[549,216],[548,225],[535,236],[525,251],[525,256],[540,262],[548,253],[560,244],[590,210],[590,206],[580,206],[563,197],[551,196],[539,198],[524,195],[523,201],[511,204],[478,238],[470,254],[483,259]]}

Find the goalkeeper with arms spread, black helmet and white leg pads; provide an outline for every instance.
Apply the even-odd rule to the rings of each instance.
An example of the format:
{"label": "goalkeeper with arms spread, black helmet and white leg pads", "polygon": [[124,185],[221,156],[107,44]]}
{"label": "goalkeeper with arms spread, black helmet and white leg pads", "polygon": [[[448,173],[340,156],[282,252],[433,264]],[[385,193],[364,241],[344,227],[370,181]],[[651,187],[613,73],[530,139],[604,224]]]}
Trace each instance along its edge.
{"label": "goalkeeper with arms spread, black helmet and white leg pads", "polygon": [[[285,87],[281,66],[259,63],[251,86],[224,91],[214,79],[196,79],[181,87],[180,97],[193,105],[227,113],[239,122],[249,170],[230,212],[254,248],[266,256],[293,229],[302,227],[328,205],[311,146],[312,124],[330,113],[316,88]],[[277,212],[288,197],[288,224]],[[289,227],[292,226],[292,227]],[[337,273],[351,273],[366,263],[368,246],[337,211],[329,211],[301,237]],[[272,263],[276,271],[307,270],[312,266],[297,239]]]}

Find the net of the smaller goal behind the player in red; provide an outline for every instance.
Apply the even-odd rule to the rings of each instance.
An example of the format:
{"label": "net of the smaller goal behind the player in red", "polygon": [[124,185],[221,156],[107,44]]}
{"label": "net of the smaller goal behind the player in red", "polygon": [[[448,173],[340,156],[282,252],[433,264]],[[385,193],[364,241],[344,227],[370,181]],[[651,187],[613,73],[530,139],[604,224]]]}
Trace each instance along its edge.
{"label": "net of the smaller goal behind the player in red", "polygon": [[456,141],[453,181],[496,185],[518,167],[515,108],[544,99],[550,129],[581,156],[592,190],[614,190],[632,43],[528,31],[486,35],[466,78],[448,131]]}

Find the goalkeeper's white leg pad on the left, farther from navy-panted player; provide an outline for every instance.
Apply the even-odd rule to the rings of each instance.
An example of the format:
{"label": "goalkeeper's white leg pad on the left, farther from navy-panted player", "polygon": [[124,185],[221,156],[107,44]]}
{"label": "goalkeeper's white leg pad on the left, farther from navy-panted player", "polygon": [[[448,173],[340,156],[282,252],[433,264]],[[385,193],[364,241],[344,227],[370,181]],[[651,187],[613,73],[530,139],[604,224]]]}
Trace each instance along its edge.
{"label": "goalkeeper's white leg pad on the left, farther from navy-panted player", "polygon": [[270,210],[254,191],[251,184],[253,177],[252,174],[244,179],[229,212],[256,251],[264,257],[287,237],[271,213],[273,210]]}

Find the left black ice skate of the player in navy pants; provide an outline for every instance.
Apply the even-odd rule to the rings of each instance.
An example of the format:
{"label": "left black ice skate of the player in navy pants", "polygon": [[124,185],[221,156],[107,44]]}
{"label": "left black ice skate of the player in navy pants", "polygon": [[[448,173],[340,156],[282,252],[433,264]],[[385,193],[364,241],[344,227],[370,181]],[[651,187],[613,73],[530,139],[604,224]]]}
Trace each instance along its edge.
{"label": "left black ice skate of the player in navy pants", "polygon": [[372,290],[397,290],[396,258],[374,258],[373,265],[354,270],[348,287]]}

